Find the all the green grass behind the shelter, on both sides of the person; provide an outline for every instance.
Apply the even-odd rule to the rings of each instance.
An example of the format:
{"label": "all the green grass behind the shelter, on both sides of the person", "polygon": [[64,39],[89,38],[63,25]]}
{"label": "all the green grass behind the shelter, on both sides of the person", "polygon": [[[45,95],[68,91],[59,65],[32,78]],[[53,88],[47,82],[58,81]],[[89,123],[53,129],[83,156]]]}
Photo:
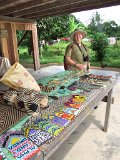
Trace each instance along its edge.
{"label": "all the green grass behind the shelter, on both sides of the person", "polygon": [[[41,49],[40,63],[63,63],[63,57],[65,54],[65,48],[70,42],[60,42],[52,46],[47,46]],[[86,43],[90,47],[90,43]],[[114,58],[114,56],[117,56]],[[33,56],[28,54],[27,47],[19,48],[20,63],[33,63]],[[100,66],[100,63],[95,60],[95,53],[90,49],[90,63],[91,66]],[[117,42],[117,46],[110,46],[107,50],[107,56],[104,63],[108,67],[120,68],[120,41]]]}

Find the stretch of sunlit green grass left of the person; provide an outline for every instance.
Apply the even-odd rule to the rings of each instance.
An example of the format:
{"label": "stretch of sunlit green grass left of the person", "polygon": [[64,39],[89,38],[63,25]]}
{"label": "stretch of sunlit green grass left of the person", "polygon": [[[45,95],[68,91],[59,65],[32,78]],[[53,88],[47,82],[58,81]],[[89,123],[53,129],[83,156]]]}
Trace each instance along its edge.
{"label": "stretch of sunlit green grass left of the person", "polygon": [[[52,46],[47,46],[46,48],[42,48],[42,56],[40,57],[41,64],[47,63],[63,63],[63,57],[65,48],[69,42],[60,41]],[[45,47],[46,47],[45,46]],[[59,50],[58,50],[59,46]],[[21,63],[33,63],[33,57],[27,54],[27,48],[20,48],[20,62]]]}

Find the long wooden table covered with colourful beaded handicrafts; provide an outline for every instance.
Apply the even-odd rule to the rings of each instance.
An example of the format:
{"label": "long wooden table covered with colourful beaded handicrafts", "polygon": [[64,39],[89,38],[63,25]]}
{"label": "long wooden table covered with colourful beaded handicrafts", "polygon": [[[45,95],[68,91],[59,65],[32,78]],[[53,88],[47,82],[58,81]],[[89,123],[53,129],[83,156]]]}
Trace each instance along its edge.
{"label": "long wooden table covered with colourful beaded handicrafts", "polygon": [[90,75],[65,71],[38,80],[41,94],[49,97],[48,106],[38,108],[36,116],[26,115],[2,133],[1,151],[8,159],[48,159],[105,96],[106,132],[117,77],[117,72],[110,71],[93,71]]}

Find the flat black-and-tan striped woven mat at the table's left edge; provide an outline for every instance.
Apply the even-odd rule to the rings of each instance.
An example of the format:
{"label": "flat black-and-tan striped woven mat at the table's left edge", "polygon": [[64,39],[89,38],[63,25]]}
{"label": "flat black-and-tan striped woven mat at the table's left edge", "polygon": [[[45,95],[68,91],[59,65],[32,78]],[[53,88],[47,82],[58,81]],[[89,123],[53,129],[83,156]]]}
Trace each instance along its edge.
{"label": "flat black-and-tan striped woven mat at the table's left edge", "polygon": [[26,113],[0,104],[0,134],[22,119]]}

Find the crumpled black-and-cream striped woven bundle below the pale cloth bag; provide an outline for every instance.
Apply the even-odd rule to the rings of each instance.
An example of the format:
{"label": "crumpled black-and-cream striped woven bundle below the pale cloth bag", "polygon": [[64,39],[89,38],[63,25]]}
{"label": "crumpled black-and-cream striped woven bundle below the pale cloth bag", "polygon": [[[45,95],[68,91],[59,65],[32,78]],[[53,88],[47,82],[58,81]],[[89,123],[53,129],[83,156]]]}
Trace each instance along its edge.
{"label": "crumpled black-and-cream striped woven bundle below the pale cloth bag", "polygon": [[5,102],[12,102],[20,111],[32,114],[38,108],[45,108],[48,104],[48,97],[40,95],[39,92],[27,88],[7,91],[3,99]]}

